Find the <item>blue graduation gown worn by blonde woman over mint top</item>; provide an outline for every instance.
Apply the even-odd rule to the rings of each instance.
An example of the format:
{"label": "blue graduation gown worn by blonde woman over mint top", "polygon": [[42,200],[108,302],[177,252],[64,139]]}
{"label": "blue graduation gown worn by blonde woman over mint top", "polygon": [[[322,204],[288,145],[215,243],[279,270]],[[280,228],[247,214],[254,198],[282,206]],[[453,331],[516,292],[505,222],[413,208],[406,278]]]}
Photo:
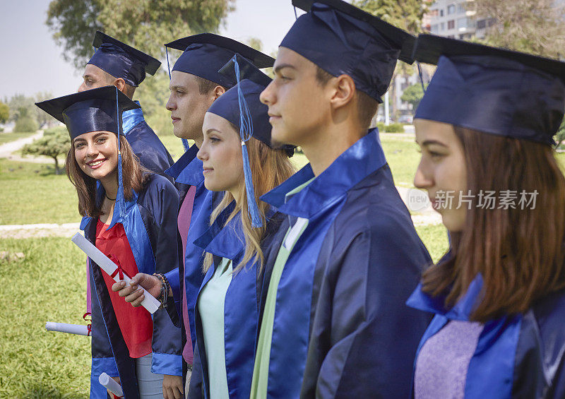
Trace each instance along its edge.
{"label": "blue graduation gown worn by blonde woman over mint top", "polygon": [[[244,256],[245,237],[242,231],[241,214],[230,220],[222,228],[233,208],[234,203],[223,210],[213,225],[196,240],[195,244],[214,256],[214,265],[208,269],[198,295],[212,278],[215,268],[220,266],[222,258],[231,259],[233,268],[236,268]],[[270,240],[273,239],[280,222],[282,222],[282,215],[280,214],[271,212],[269,216],[266,222],[265,237],[261,242],[263,248],[270,245]],[[261,281],[261,271],[250,261],[239,273],[233,275],[230,287],[226,292],[224,307],[225,367],[230,399],[249,399],[251,378],[253,377]],[[198,302],[198,299],[196,299],[196,302]],[[195,306],[195,315],[197,349],[194,354],[189,398],[210,398],[208,364],[198,306]]]}

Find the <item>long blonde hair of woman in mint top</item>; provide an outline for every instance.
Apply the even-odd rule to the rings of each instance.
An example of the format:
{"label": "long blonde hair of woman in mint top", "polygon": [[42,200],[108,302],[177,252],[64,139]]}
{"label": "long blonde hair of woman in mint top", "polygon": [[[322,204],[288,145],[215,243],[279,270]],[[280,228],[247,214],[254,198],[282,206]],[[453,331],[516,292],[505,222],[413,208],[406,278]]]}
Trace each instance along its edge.
{"label": "long blonde hair of woman in mint top", "polygon": [[[235,129],[235,126],[233,127]],[[237,205],[226,220],[227,225],[227,222],[230,222],[230,220],[232,220],[238,213],[241,213],[242,230],[245,239],[245,253],[242,261],[234,268],[234,273],[242,270],[242,268],[244,268],[244,266],[251,260],[253,260],[254,263],[258,261],[258,267],[263,268],[265,258],[263,256],[263,251],[261,250],[261,241],[263,241],[266,234],[265,213],[268,210],[269,205],[268,203],[260,201],[259,197],[283,183],[283,181],[291,177],[295,172],[290,160],[288,160],[285,150],[273,150],[265,143],[258,141],[256,138],[249,139],[249,141],[246,142],[246,145],[249,153],[249,165],[251,167],[253,185],[255,188],[255,201],[257,201],[259,215],[261,216],[263,226],[251,226],[251,218],[249,218],[249,213],[247,212],[247,194],[245,191],[244,180],[242,179],[238,198],[239,201],[237,201]],[[236,198],[232,196],[232,193],[225,191],[224,198],[222,198],[222,201],[220,201],[218,206],[216,206],[210,215],[210,225],[216,220],[216,218],[218,218],[218,215],[222,213],[222,210],[225,210],[225,208],[227,208],[234,199]],[[203,263],[204,273],[208,271],[212,264],[212,254],[206,253]]]}

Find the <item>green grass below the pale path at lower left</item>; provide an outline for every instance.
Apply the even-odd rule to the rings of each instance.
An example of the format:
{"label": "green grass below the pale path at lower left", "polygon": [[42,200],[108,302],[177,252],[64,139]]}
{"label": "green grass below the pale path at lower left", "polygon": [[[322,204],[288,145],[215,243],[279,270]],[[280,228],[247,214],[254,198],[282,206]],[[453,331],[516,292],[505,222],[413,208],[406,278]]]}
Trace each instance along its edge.
{"label": "green grass below the pale path at lower left", "polygon": [[65,238],[0,239],[0,398],[87,398],[90,338],[45,330],[85,324],[85,257]]}

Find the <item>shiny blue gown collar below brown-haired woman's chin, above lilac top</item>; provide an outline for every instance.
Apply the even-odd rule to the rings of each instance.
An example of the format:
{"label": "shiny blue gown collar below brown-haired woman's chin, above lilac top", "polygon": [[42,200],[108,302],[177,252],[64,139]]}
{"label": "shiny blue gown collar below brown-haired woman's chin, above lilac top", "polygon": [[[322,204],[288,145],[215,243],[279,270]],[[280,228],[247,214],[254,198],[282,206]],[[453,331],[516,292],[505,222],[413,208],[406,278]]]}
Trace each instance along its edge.
{"label": "shiny blue gown collar below brown-haired woman's chin, above lilac top", "polygon": [[422,283],[412,292],[406,304],[412,308],[441,314],[451,320],[469,321],[470,314],[480,303],[483,280],[478,274],[469,285],[467,292],[451,309],[445,307],[446,295],[432,297],[422,291]]}

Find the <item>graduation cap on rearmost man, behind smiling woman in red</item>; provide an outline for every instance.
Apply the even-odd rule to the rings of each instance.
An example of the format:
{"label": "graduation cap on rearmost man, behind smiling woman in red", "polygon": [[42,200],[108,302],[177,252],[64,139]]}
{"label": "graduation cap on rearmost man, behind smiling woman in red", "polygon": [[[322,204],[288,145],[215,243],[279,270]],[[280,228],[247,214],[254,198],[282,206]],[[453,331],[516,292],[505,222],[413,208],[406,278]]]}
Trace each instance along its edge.
{"label": "graduation cap on rearmost man, behind smiling woman in red", "polygon": [[97,66],[114,78],[122,78],[127,84],[134,87],[143,82],[145,72],[155,75],[161,65],[159,60],[100,30],[97,30],[94,35],[93,46],[97,50],[88,64]]}

